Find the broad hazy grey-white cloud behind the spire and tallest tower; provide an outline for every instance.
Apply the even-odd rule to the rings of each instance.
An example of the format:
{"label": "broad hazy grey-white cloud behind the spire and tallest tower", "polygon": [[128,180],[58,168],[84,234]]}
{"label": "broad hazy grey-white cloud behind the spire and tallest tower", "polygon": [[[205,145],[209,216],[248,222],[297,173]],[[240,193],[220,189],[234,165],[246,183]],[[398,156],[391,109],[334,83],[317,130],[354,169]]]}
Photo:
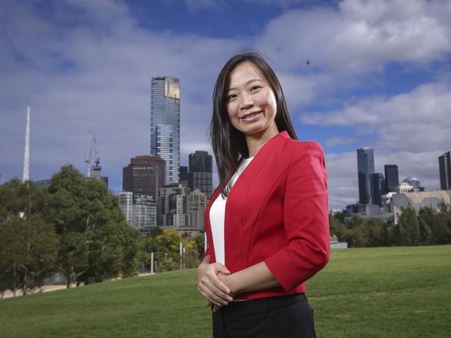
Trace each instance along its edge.
{"label": "broad hazy grey-white cloud behind the spire and tallest tower", "polygon": [[8,65],[0,66],[2,181],[22,174],[27,99],[32,179],[67,162],[84,172],[92,133],[103,174],[122,177],[129,158],[149,153],[152,76],[181,79],[181,164],[208,147],[215,76],[242,40],[146,31],[116,1],[58,2],[45,15],[32,4],[7,5],[8,30],[0,37]]}

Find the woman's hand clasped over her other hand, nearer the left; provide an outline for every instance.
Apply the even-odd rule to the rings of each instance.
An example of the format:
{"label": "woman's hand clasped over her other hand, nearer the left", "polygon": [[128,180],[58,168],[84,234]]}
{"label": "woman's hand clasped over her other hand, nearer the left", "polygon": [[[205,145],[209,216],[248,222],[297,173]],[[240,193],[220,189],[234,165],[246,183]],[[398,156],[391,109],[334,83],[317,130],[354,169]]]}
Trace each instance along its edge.
{"label": "woman's hand clasped over her other hand, nearer the left", "polygon": [[210,255],[204,257],[199,267],[197,267],[197,291],[208,301],[215,305],[227,305],[233,298],[231,290],[225,285],[218,273],[229,275],[227,267],[220,263],[210,263]]}

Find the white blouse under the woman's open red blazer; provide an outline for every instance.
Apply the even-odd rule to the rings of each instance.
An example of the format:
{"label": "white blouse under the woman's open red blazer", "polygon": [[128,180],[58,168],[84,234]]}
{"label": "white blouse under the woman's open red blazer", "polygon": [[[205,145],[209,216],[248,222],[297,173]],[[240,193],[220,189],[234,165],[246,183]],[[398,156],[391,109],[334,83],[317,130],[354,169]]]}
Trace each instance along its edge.
{"label": "white blouse under the woman's open red blazer", "polygon": [[[238,169],[236,169],[235,174],[231,177],[231,187],[235,184],[236,180],[243,171],[246,169],[247,165],[252,161],[252,158],[243,158]],[[213,246],[215,248],[216,262],[225,265],[225,254],[224,254],[224,218],[225,218],[225,206],[227,202],[227,197],[223,198],[222,194],[218,194],[210,208],[210,226],[211,234],[213,236]]]}

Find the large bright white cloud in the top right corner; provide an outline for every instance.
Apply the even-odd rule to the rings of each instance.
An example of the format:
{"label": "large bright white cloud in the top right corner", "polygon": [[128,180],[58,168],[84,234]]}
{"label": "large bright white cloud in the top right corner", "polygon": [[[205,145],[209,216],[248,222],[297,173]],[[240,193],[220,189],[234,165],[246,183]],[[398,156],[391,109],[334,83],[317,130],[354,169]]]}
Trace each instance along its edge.
{"label": "large bright white cloud in the top right corner", "polygon": [[291,10],[271,20],[257,43],[279,67],[336,73],[387,62],[428,64],[451,51],[451,1],[345,0],[334,8]]}

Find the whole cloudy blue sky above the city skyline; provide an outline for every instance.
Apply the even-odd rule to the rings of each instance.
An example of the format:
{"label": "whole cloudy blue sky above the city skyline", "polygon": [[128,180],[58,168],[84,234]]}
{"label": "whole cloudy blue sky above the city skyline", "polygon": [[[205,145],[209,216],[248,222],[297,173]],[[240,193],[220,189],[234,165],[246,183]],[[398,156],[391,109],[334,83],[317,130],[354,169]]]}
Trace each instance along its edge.
{"label": "whole cloudy blue sky above the city skyline", "polygon": [[[149,153],[152,76],[181,79],[181,164],[206,140],[215,77],[250,47],[270,59],[300,140],[322,144],[329,207],[358,199],[356,149],[376,170],[437,189],[451,149],[451,1],[0,1],[1,182],[22,175],[31,102],[31,179],[102,173]],[[310,65],[306,60],[310,59]],[[215,175],[215,183],[218,182]]]}

